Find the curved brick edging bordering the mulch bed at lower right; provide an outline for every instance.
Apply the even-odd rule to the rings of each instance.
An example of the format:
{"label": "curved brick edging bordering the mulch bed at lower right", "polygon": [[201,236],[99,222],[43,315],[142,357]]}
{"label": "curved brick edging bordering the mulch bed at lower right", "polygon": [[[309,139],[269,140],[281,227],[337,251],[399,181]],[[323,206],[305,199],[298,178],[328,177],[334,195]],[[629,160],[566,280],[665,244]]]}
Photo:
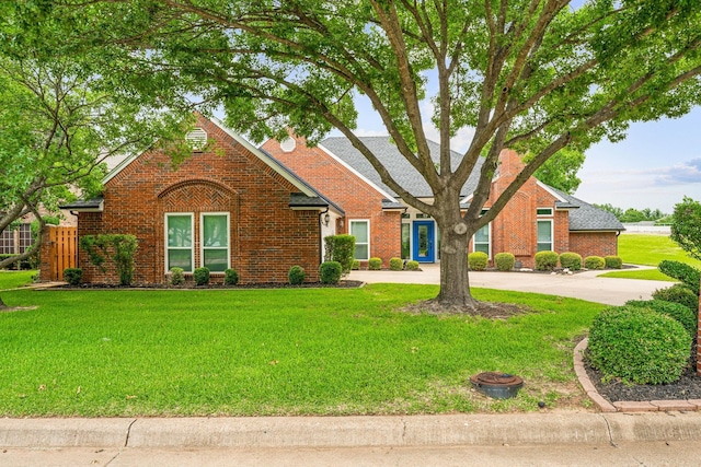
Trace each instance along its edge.
{"label": "curved brick edging bordering the mulch bed at lower right", "polygon": [[701,399],[689,400],[620,400],[618,402],[609,402],[597,390],[589,375],[584,369],[583,354],[587,349],[588,338],[584,338],[577,347],[574,348],[574,372],[579,380],[582,388],[587,393],[594,405],[602,412],[657,412],[657,411],[701,411]]}

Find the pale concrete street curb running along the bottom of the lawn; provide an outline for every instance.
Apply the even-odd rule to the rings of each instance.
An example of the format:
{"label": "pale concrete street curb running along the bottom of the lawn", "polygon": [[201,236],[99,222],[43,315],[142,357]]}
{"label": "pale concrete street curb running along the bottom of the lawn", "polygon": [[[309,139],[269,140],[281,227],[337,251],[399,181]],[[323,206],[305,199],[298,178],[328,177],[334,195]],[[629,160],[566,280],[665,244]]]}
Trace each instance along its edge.
{"label": "pale concrete street curb running along the bottom of the lawn", "polygon": [[0,447],[372,447],[701,441],[701,413],[0,419]]}

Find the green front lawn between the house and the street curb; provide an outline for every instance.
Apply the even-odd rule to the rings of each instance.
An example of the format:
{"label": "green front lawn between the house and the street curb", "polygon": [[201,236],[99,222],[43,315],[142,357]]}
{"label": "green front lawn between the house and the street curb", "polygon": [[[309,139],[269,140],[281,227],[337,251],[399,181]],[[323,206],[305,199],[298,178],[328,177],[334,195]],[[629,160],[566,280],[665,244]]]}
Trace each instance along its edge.
{"label": "green front lawn between the house and the street curb", "polygon": [[[604,305],[474,290],[526,304],[508,320],[410,315],[437,287],[11,291],[0,314],[0,416],[440,413],[582,407],[574,339]],[[515,399],[472,374],[524,377]]]}

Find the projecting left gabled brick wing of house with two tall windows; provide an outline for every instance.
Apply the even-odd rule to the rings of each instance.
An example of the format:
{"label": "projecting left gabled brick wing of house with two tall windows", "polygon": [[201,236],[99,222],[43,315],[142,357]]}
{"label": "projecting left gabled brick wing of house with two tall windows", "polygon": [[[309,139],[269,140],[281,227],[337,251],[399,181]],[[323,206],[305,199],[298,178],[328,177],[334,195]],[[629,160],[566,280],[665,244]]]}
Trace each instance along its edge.
{"label": "projecting left gabled brick wing of house with two tall windows", "polygon": [[[200,149],[177,168],[162,152],[136,154],[108,173],[102,198],[65,206],[78,213],[78,236],[136,235],[136,283],[203,266],[212,281],[233,268],[243,284],[287,282],[295,265],[318,281],[323,237],[343,211],[218,122],[198,117],[188,139]],[[79,267],[87,282],[118,282],[82,249]]]}

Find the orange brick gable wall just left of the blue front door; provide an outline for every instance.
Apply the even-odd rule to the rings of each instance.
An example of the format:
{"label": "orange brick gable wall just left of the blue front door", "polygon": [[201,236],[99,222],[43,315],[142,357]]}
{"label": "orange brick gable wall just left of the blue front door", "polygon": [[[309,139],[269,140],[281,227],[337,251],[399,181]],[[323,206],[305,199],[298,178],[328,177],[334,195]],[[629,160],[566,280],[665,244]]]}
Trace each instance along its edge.
{"label": "orange brick gable wall just left of the blue front door", "polygon": [[303,138],[291,138],[296,142],[291,152],[283,151],[276,140],[263,149],[345,211],[338,233],[347,233],[352,220],[369,220],[370,257],[381,258],[384,266],[390,258],[401,257],[401,212],[382,211],[382,195],[376,189],[325,151],[308,148]]}

